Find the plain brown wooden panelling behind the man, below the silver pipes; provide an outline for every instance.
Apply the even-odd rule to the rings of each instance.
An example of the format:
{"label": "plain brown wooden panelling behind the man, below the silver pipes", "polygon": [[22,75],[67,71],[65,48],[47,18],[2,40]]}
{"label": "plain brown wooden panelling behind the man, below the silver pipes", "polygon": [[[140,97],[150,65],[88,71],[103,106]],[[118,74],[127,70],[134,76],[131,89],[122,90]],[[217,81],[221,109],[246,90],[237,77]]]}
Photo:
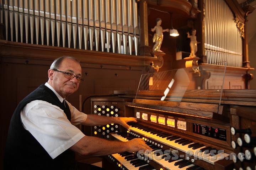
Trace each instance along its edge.
{"label": "plain brown wooden panelling behind the man, below the silver pipes", "polygon": [[[154,71],[157,58],[17,44],[0,40],[0,169],[11,116],[17,104],[48,81],[53,60],[70,55],[81,61],[84,83],[67,100],[79,109],[79,95],[108,94],[110,90],[137,90],[140,75]],[[5,46],[6,44],[7,46]],[[11,45],[10,45],[11,44]],[[22,47],[23,46],[23,47]],[[85,113],[90,113],[86,110]]]}

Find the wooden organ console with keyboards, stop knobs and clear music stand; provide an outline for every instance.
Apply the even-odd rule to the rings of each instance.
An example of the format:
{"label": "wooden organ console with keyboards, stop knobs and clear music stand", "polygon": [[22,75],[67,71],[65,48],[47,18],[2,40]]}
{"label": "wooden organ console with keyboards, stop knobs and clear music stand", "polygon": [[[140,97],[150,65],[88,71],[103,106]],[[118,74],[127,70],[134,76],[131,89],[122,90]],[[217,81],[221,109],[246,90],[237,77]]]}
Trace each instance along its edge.
{"label": "wooden organ console with keyboards, stop knobs and clear music stand", "polygon": [[[204,74],[213,71],[209,73],[209,67],[145,74],[137,93],[114,91],[120,98],[133,98],[122,102],[122,108],[126,117],[136,117],[138,122],[110,133],[112,139],[142,138],[153,151],[108,155],[103,168],[255,169],[256,91],[200,89]],[[215,72],[223,74],[215,81],[224,83],[225,70]]]}

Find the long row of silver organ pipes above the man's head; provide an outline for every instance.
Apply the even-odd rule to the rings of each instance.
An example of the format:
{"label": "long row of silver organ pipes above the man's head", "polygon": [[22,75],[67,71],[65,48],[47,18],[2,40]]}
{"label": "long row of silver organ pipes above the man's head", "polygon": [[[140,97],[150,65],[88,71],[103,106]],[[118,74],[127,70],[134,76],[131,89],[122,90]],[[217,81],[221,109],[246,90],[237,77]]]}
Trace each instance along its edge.
{"label": "long row of silver organ pipes above the man's head", "polygon": [[135,0],[0,0],[0,22],[9,41],[138,55]]}

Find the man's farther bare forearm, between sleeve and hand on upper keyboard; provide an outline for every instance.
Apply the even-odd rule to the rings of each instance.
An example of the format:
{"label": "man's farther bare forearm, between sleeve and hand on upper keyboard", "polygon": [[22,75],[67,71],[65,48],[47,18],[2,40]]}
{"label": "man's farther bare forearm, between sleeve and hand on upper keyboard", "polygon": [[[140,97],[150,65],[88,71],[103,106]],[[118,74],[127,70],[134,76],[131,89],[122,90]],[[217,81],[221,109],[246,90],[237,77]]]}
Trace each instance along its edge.
{"label": "man's farther bare forearm, between sleeve and hand on upper keyboard", "polygon": [[106,124],[110,124],[110,123],[118,123],[119,124],[119,118],[88,114],[87,119],[82,123],[82,125],[98,126],[98,125],[106,125]]}

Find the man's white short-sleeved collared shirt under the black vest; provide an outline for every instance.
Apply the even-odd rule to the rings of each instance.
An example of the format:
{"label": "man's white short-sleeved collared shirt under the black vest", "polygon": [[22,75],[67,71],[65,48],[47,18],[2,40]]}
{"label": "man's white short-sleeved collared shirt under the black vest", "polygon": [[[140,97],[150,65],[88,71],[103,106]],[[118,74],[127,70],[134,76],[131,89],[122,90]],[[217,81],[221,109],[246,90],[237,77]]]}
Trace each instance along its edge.
{"label": "man's white short-sleeved collared shirt under the black vest", "polygon": [[[63,98],[50,86],[54,94],[63,102]],[[87,114],[79,112],[74,106],[66,101],[71,112],[71,122],[66,114],[58,106],[42,100],[28,103],[21,110],[21,122],[34,138],[42,145],[53,159],[66,149],[73,146],[85,135],[76,128],[87,119]]]}

